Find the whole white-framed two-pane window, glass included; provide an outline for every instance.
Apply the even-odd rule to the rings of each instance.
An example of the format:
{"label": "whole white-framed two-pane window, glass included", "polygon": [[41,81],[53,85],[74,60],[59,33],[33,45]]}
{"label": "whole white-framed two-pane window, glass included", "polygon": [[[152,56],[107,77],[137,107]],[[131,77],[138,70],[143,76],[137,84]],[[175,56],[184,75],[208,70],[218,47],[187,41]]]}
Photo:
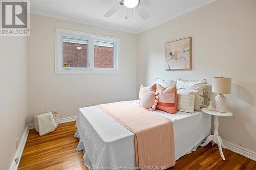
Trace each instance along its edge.
{"label": "whole white-framed two-pane window, glass included", "polygon": [[55,73],[118,72],[119,38],[56,28]]}

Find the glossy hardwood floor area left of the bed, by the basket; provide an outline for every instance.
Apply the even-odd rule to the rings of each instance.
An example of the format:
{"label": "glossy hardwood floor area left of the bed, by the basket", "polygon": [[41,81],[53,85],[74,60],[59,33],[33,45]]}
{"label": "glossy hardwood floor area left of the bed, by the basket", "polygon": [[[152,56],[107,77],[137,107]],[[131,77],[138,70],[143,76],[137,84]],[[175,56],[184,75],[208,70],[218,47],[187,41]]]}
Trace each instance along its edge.
{"label": "glossy hardwood floor area left of the bed, by the basket", "polygon": [[44,136],[31,129],[18,169],[87,169],[83,153],[76,151],[75,132],[75,122],[59,124]]}

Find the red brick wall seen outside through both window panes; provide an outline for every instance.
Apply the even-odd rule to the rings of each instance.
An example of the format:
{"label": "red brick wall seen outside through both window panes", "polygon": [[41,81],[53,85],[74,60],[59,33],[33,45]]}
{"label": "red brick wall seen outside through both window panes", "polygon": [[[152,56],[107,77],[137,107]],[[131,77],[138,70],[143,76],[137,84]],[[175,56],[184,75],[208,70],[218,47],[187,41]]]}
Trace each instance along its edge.
{"label": "red brick wall seen outside through both window panes", "polygon": [[[80,50],[77,47],[82,47]],[[94,45],[94,67],[113,68],[114,48]],[[70,67],[88,66],[88,46],[86,44],[63,42],[63,64]]]}

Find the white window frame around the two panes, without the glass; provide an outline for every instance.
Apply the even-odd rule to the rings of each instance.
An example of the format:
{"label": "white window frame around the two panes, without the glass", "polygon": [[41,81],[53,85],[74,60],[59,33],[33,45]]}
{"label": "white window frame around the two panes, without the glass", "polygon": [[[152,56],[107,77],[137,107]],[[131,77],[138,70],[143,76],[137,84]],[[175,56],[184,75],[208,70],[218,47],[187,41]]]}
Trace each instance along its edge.
{"label": "white window frame around the two panes, without the glass", "polygon": [[[63,37],[88,41],[88,67],[63,67]],[[114,44],[113,68],[94,67],[94,41]],[[120,38],[55,28],[55,74],[112,74],[119,70]]]}

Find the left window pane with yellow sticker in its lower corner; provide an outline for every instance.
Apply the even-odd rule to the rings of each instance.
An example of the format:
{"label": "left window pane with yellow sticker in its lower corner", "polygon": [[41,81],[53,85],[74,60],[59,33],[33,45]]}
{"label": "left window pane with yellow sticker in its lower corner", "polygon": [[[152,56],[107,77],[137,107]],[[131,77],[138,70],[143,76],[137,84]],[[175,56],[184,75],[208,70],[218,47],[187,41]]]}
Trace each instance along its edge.
{"label": "left window pane with yellow sticker in its lower corner", "polygon": [[88,41],[63,37],[63,67],[88,66]]}

